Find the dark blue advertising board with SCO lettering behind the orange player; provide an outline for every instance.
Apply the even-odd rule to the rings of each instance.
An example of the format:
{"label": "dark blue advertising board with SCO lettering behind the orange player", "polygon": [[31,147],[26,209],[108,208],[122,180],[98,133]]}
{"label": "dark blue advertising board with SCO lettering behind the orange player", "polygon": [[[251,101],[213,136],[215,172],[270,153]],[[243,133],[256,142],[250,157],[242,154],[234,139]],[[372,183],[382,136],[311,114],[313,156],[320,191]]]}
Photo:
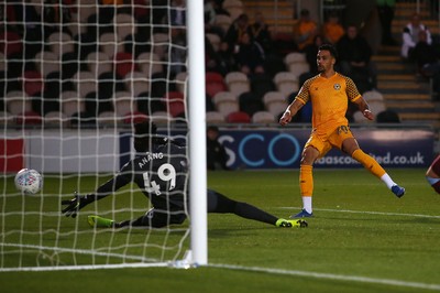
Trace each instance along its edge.
{"label": "dark blue advertising board with SCO lettering behind the orange player", "polygon": [[[433,160],[433,133],[409,129],[352,129],[361,149],[384,167],[427,167]],[[132,153],[131,133],[120,133],[120,165]],[[182,137],[182,131],[172,135]],[[297,169],[308,129],[220,129],[219,141],[226,146],[231,169]],[[362,167],[351,156],[333,149],[319,159],[320,167]]]}

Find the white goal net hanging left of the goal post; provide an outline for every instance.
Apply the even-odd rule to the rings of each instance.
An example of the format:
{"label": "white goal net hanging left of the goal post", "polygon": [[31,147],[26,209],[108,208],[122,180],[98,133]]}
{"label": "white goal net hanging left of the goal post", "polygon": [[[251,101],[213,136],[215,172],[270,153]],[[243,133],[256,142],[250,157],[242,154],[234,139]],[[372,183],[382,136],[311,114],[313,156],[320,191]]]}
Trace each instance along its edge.
{"label": "white goal net hanging left of the goal post", "polygon": [[[157,229],[88,225],[88,215],[145,214],[152,206],[134,184],[76,218],[61,213],[63,199],[94,193],[134,158],[139,121],[150,118],[190,155],[188,12],[168,0],[2,1],[0,271],[194,264],[190,217]],[[23,167],[42,173],[38,194],[15,189]]]}

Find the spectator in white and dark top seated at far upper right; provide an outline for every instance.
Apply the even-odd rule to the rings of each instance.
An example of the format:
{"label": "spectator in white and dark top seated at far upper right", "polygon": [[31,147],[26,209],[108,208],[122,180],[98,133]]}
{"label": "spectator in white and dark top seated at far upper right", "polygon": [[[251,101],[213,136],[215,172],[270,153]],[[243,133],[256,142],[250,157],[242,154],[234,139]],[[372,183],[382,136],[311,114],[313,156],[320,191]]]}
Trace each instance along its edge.
{"label": "spectator in white and dark top seated at far upper right", "polygon": [[428,28],[420,22],[420,15],[418,13],[414,13],[411,21],[404,28],[404,32],[402,34],[402,48],[400,54],[402,57],[405,59],[413,59],[414,56],[413,50],[416,46],[417,42],[419,41],[419,32],[426,32],[427,43],[431,44],[431,33],[429,32]]}

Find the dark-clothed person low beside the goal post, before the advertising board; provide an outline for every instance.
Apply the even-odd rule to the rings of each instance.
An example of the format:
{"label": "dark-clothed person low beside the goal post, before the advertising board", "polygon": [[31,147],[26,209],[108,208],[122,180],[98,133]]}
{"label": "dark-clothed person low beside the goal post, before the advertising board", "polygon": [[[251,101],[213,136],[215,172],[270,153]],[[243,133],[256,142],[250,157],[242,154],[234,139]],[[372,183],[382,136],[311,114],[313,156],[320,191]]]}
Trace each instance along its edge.
{"label": "dark-clothed person low beside the goal post, before the advertising board", "polygon": [[229,170],[227,166],[228,154],[224,146],[219,142],[219,128],[207,129],[207,164],[208,170]]}

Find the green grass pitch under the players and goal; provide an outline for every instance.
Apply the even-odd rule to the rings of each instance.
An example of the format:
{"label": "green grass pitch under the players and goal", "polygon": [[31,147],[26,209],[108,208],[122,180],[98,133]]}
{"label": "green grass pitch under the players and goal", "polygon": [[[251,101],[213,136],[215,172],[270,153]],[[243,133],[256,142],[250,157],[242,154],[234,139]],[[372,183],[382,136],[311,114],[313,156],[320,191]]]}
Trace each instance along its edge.
{"label": "green grass pitch under the players and goal", "polygon": [[[388,170],[406,187],[396,198],[386,186],[365,170],[315,169],[315,217],[305,229],[279,229],[233,215],[209,215],[209,265],[198,269],[147,268],[53,272],[0,272],[0,292],[435,292],[440,291],[440,195],[425,180],[425,170]],[[248,202],[279,217],[300,209],[298,171],[211,172],[208,185],[234,199]],[[103,182],[106,178],[99,178]],[[59,241],[74,241],[73,231],[85,231],[77,247],[101,242],[145,239],[161,243],[163,231],[110,234],[87,226],[85,215],[76,220],[57,215],[59,198],[25,198],[13,203],[12,178],[2,178],[6,194],[0,200],[1,242],[13,242],[10,230],[46,230],[43,237],[29,234],[24,241],[37,239],[50,246],[55,230]],[[67,196],[80,183],[81,192],[97,186],[94,177],[67,176],[62,193]],[[59,189],[54,178],[45,180],[44,191]],[[116,202],[105,198],[98,210],[124,206],[146,208],[142,195],[118,194]],[[12,202],[11,202],[12,200]],[[24,224],[13,210],[25,205],[47,205],[47,217],[30,214]],[[4,208],[7,207],[7,208]],[[102,209],[101,209],[102,208]],[[114,217],[131,216],[122,210]],[[134,216],[134,215],[133,215]],[[38,220],[37,220],[38,219]],[[122,219],[122,218],[121,218]],[[51,229],[51,227],[53,229]],[[179,237],[180,231],[169,238]],[[23,241],[23,239],[22,239]],[[59,245],[59,243],[58,243]],[[72,245],[72,243],[69,243]],[[6,249],[0,247],[1,252]],[[133,251],[135,253],[135,249]],[[63,259],[66,257],[66,259]],[[1,256],[3,263],[35,262]],[[61,253],[59,263],[86,263]]]}

